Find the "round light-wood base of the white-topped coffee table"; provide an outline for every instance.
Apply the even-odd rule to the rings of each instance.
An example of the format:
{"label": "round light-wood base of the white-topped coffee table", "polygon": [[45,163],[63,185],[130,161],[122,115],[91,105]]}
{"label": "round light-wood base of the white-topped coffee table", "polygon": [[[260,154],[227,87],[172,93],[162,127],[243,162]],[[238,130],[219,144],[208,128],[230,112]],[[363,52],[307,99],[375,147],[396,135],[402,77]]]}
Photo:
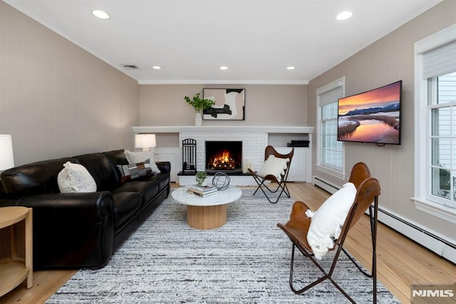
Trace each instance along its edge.
{"label": "round light-wood base of the white-topped coffee table", "polygon": [[187,223],[202,230],[219,228],[227,223],[227,205],[187,206]]}

